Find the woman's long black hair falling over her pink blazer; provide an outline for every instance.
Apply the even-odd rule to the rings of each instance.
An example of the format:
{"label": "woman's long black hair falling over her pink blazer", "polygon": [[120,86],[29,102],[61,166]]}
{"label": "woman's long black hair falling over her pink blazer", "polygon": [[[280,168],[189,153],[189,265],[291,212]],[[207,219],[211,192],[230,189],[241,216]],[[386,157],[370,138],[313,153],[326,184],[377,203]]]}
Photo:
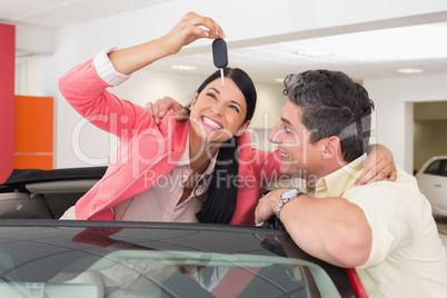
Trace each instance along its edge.
{"label": "woman's long black hair falling over her pink blazer", "polygon": [[[242,92],[247,102],[244,122],[251,119],[256,108],[256,88],[250,77],[239,68],[225,68],[224,77],[231,79]],[[208,77],[197,90],[200,93],[211,81],[220,78],[220,71]],[[229,224],[236,210],[238,195],[238,137],[234,136],[224,143],[217,156],[213,172],[208,177],[207,199],[197,219],[200,222]]]}

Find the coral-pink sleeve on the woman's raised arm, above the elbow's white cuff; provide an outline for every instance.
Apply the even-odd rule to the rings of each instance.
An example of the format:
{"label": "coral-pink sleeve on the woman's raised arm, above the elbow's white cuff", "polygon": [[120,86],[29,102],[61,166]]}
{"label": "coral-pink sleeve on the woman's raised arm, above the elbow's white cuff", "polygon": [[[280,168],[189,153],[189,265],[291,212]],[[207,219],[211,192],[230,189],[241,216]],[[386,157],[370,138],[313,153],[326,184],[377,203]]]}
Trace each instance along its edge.
{"label": "coral-pink sleeve on the woman's raised arm, above the elbow's white cuff", "polygon": [[106,90],[108,87],[92,59],[59,79],[59,89],[71,107],[102,130],[118,137],[131,136],[152,123],[152,116],[145,108],[118,99]]}

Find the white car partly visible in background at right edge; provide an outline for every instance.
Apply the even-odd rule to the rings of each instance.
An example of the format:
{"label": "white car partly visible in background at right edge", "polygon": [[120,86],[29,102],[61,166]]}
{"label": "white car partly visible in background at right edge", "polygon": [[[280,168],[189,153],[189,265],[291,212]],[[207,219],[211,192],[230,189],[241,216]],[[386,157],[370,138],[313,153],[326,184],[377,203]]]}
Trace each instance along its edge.
{"label": "white car partly visible in background at right edge", "polygon": [[415,177],[420,192],[431,203],[433,213],[447,216],[447,156],[430,158]]}

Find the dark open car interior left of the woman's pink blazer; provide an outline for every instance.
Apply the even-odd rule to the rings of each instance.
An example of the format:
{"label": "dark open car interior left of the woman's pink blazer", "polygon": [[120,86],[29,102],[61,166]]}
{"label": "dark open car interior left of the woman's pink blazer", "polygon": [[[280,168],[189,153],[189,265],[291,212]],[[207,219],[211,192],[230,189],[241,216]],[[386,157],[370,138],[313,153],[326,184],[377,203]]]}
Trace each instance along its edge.
{"label": "dark open car interior left of the woman's pink blazer", "polygon": [[0,218],[58,219],[101,179],[106,169],[14,169],[0,185]]}

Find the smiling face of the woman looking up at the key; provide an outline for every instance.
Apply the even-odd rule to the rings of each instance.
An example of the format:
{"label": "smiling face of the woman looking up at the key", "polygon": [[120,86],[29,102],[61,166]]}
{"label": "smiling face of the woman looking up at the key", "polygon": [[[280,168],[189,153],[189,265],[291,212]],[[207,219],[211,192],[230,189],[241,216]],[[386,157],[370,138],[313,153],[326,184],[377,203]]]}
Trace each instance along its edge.
{"label": "smiling face of the woman looking up at the key", "polygon": [[232,136],[241,136],[250,121],[246,99],[237,85],[225,78],[211,81],[196,95],[190,107],[190,122],[195,135],[210,142],[225,142]]}

